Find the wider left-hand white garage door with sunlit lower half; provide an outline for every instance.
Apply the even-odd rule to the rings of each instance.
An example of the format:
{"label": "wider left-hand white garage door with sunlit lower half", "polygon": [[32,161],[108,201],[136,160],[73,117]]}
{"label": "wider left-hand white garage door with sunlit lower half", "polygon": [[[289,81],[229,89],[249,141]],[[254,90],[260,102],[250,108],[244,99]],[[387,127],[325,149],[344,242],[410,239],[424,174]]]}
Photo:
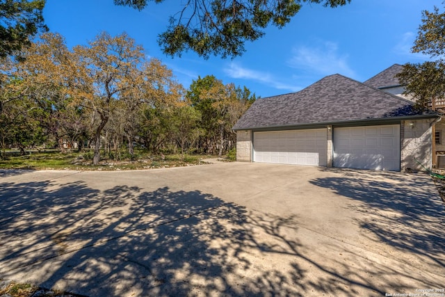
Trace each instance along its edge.
{"label": "wider left-hand white garage door with sunlit lower half", "polygon": [[254,161],[327,166],[326,129],[254,132]]}

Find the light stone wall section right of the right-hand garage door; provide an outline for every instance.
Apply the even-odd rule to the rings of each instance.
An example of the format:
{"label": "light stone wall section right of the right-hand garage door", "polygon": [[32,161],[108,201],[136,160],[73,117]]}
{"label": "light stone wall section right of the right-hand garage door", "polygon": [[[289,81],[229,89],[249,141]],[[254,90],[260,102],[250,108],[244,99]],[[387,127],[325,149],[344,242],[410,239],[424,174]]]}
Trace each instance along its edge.
{"label": "light stone wall section right of the right-hand garage door", "polygon": [[[405,120],[401,122],[401,171],[431,168],[431,120]],[[410,125],[413,123],[414,125]],[[416,160],[414,160],[414,158]]]}

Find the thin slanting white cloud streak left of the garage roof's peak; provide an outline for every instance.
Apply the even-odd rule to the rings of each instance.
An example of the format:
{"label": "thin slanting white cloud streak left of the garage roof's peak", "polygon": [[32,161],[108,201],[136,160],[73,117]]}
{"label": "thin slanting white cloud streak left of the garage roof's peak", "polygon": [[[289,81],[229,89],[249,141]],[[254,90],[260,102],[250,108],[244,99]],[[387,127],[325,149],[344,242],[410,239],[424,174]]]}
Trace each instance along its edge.
{"label": "thin slanting white cloud streak left of the garage roof's peak", "polygon": [[227,74],[232,79],[248,79],[252,81],[257,81],[259,83],[264,83],[267,86],[272,86],[278,90],[289,90],[291,92],[297,92],[302,88],[300,86],[293,85],[291,83],[284,83],[281,80],[275,79],[268,72],[261,72],[257,70],[250,70],[245,67],[241,67],[236,63],[230,63],[229,67],[225,68],[225,74]]}

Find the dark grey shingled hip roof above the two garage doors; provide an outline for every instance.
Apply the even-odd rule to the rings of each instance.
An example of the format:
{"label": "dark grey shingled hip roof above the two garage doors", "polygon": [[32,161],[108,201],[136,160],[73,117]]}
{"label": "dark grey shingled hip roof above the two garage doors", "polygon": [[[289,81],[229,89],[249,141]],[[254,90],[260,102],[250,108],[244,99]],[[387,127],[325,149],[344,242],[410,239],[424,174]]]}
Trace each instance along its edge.
{"label": "dark grey shingled hip roof above the two garage doors", "polygon": [[326,125],[422,116],[435,118],[437,113],[418,111],[406,99],[334,74],[297,93],[257,99],[233,129]]}

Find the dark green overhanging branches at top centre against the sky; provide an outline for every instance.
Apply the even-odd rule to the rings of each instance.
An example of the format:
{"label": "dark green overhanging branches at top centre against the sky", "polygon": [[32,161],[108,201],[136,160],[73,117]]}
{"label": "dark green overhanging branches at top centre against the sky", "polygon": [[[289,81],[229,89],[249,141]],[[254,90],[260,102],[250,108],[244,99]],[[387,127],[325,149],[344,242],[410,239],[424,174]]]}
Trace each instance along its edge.
{"label": "dark green overhanging branches at top centre against the sky", "polygon": [[[148,0],[114,0],[122,6],[142,10]],[[155,0],[161,3],[163,0]],[[170,17],[167,30],[159,35],[165,54],[181,56],[192,50],[204,58],[241,56],[246,41],[264,35],[269,24],[282,28],[298,13],[303,2],[323,3],[332,8],[350,0],[188,0],[179,13]]]}

